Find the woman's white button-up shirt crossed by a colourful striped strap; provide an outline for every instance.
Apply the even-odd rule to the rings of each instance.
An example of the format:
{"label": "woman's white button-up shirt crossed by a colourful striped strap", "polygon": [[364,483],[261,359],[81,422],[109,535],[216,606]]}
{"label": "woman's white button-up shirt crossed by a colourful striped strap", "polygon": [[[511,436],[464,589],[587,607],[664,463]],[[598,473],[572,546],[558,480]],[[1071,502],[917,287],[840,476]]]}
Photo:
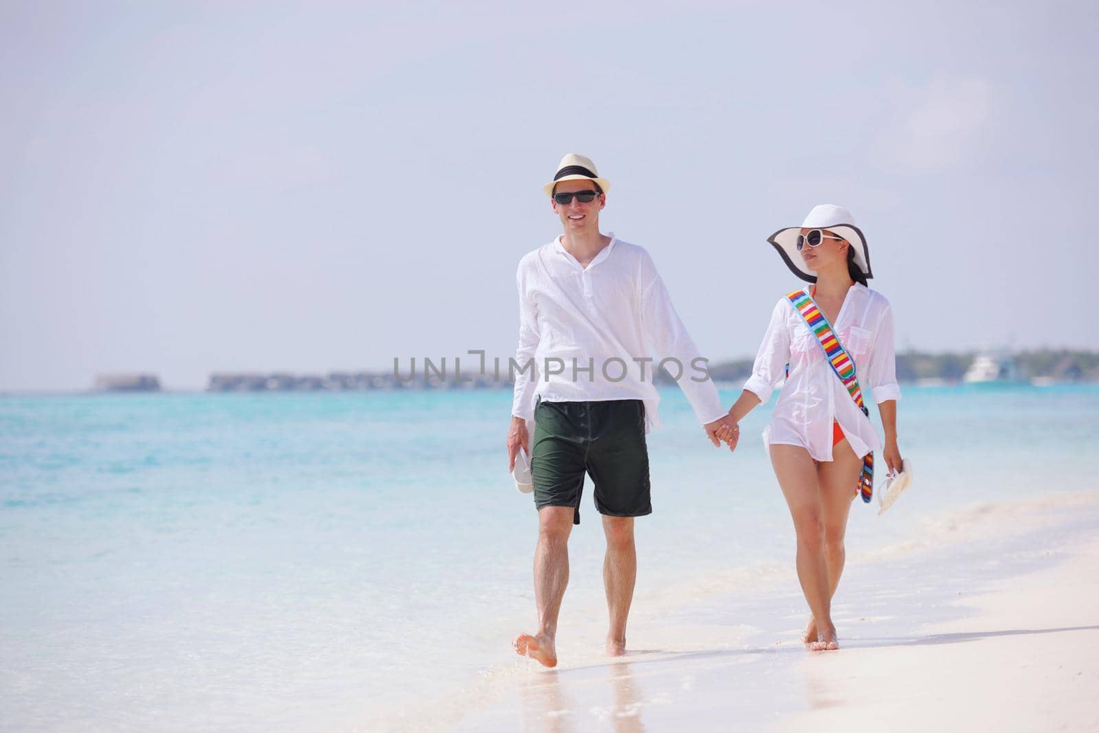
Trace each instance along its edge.
{"label": "woman's white button-up shirt crossed by a colourful striped strap", "polygon": [[[855,374],[864,396],[872,392],[879,404],[899,400],[892,310],[885,296],[856,282],[847,291],[832,327],[855,362]],[[788,377],[787,364],[790,365]],[[851,399],[817,336],[785,297],[771,312],[770,324],[744,389],[766,402],[784,377],[786,385],[770,424],[763,432],[765,446],[771,443],[800,445],[814,460],[832,460],[834,420],[859,457],[881,447],[869,418]]]}

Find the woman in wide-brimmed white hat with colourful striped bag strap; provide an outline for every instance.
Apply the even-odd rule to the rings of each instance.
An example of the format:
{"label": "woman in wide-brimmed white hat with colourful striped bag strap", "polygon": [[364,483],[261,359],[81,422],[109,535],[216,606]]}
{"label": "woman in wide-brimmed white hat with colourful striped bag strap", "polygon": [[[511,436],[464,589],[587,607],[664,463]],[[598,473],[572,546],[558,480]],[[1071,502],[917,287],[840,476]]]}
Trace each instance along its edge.
{"label": "woman in wide-brimmed white hat with colourful striped bag strap", "polygon": [[[859,489],[869,501],[864,456],[882,448],[859,389],[870,390],[878,403],[885,466],[901,469],[892,313],[889,301],[866,287],[873,277],[869,252],[846,209],[819,206],[800,227],[779,230],[768,242],[795,275],[813,285],[775,306],[752,377],[729,413],[740,422],[786,379],[764,445],[798,537],[798,579],[812,613],[802,641],[812,649],[835,649],[831,604],[843,573],[847,512]],[[739,433],[723,427],[718,436],[733,449]]]}

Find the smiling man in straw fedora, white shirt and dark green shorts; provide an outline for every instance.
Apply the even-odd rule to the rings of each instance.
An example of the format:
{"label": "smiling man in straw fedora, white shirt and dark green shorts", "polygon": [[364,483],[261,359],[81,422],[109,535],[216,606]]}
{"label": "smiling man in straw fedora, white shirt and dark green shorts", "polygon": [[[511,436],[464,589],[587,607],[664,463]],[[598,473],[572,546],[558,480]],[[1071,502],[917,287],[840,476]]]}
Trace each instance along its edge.
{"label": "smiling man in straw fedora, white shirt and dark green shorts", "polygon": [[[508,460],[513,469],[520,446],[531,456],[539,511],[539,628],[513,644],[519,654],[546,667],[557,664],[568,536],[580,522],[585,473],[595,482],[607,535],[607,653],[625,654],[637,570],[633,518],[652,513],[645,433],[659,424],[654,375],[663,367],[676,377],[715,446],[719,427],[728,425],[732,435],[739,430],[648,253],[600,233],[599,212],[609,189],[589,158],[566,155],[543,187],[564,233],[519,263],[518,373]],[[535,424],[533,453],[529,420]]]}

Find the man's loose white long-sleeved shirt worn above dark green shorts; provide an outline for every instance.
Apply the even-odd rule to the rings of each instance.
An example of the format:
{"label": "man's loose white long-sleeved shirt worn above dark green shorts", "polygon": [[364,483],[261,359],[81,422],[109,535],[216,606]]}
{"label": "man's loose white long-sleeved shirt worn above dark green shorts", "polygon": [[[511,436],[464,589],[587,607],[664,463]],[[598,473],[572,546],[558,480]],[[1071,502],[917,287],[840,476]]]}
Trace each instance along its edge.
{"label": "man's loose white long-sleeved shirt worn above dark green shorts", "polygon": [[[660,396],[653,374],[662,359],[674,358],[682,365],[681,377],[676,363],[665,368],[678,377],[699,422],[720,419],[725,409],[718,389],[702,371],[704,362],[695,362],[698,349],[652,257],[643,247],[610,237],[586,268],[559,236],[519,262],[519,369],[511,413],[533,420],[539,396],[547,402],[640,399],[646,431],[658,427]],[[547,370],[547,358],[562,359],[563,373],[550,374],[560,365]],[[521,371],[529,360],[533,368]]]}

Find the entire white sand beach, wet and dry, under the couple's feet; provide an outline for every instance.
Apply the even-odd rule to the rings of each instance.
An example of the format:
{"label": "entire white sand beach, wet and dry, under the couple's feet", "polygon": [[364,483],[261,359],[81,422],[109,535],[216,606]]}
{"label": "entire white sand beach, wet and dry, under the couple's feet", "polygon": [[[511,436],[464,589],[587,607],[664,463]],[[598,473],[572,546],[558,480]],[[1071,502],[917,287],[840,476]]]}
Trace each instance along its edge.
{"label": "entire white sand beach, wet and dry, under the couple's feet", "polygon": [[599,652],[602,618],[563,613],[558,668],[501,660],[381,730],[1099,730],[1097,519],[1087,493],[929,522],[848,564],[834,653],[798,641],[792,567],[678,608],[642,599],[619,660]]}

